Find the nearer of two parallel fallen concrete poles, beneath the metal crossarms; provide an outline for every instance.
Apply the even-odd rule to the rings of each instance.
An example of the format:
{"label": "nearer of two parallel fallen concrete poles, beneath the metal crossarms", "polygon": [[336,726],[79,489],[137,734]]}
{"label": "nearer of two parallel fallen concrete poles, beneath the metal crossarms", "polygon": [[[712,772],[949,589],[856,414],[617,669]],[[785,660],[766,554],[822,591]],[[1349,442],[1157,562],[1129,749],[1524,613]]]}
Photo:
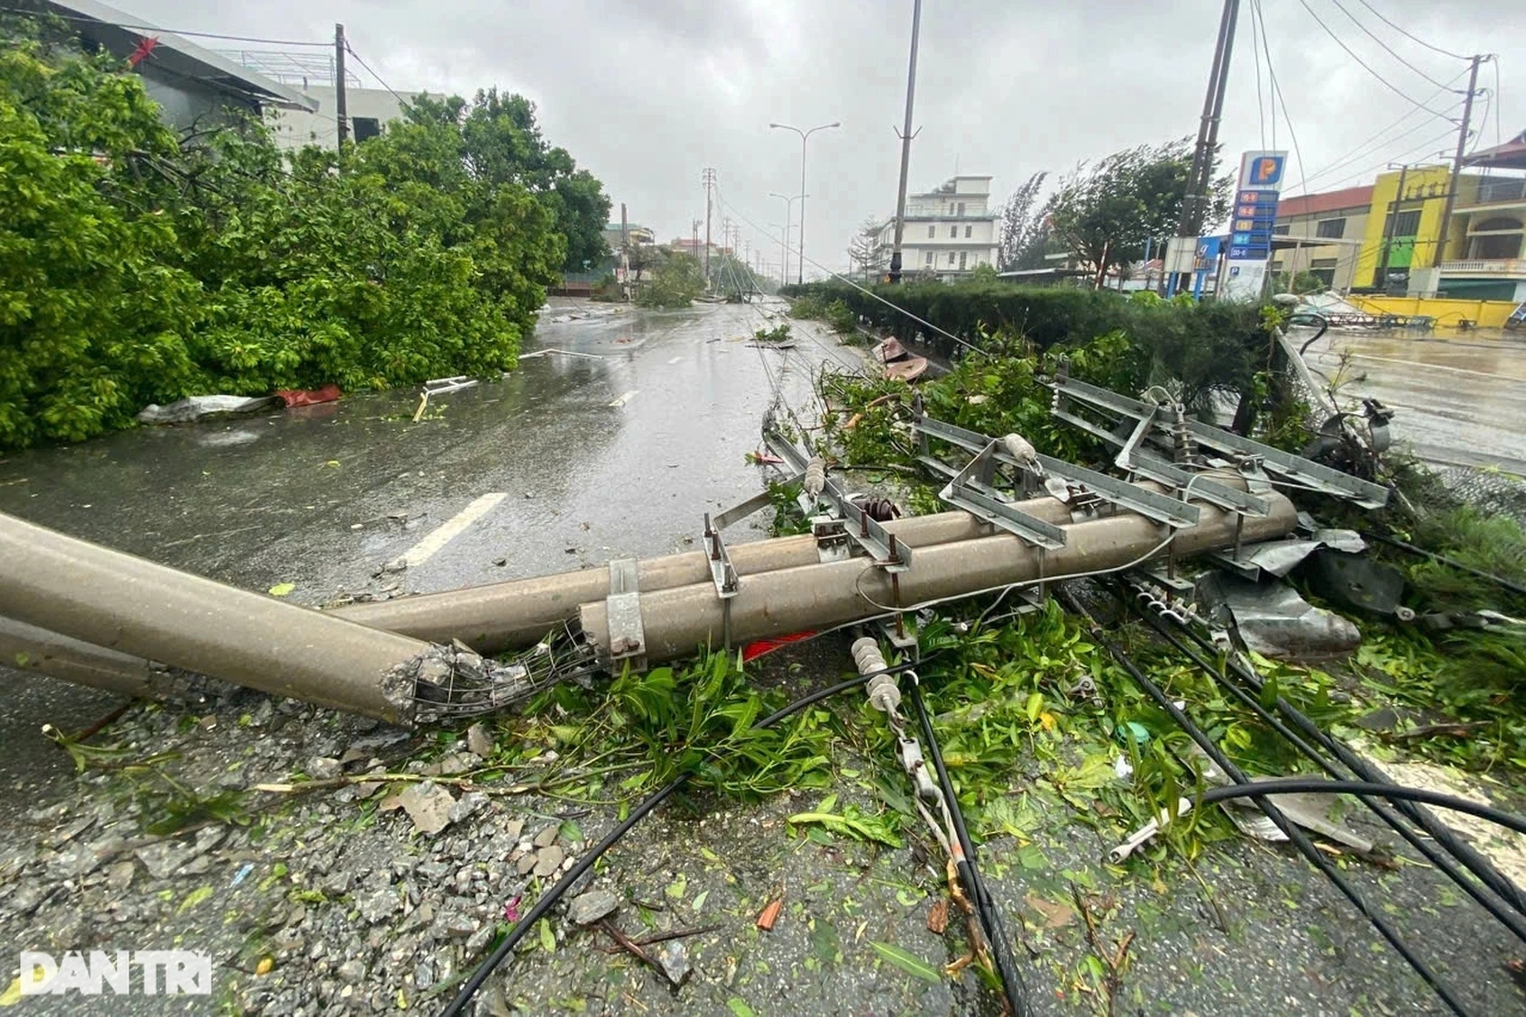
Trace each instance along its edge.
{"label": "nearer of two parallel fallen concrete poles, beneath the metal crossarms", "polygon": [[[1170,553],[1190,555],[1293,532],[1297,525],[1293,502],[1282,494],[1264,497],[1270,506],[1264,517],[1241,517],[1202,505],[1199,521],[1170,537]],[[1122,514],[1065,526],[1065,544],[1056,550],[1001,534],[917,549],[914,567],[899,575],[850,558],[751,576],[728,601],[719,599],[710,582],[641,593],[642,651],[649,662],[676,660],[693,656],[696,648],[723,645],[728,634],[734,642],[746,642],[821,630],[922,601],[1122,569],[1157,549],[1166,550],[1161,526],[1141,515]],[[584,604],[580,621],[603,659],[632,656],[629,646],[612,646],[606,601]]]}

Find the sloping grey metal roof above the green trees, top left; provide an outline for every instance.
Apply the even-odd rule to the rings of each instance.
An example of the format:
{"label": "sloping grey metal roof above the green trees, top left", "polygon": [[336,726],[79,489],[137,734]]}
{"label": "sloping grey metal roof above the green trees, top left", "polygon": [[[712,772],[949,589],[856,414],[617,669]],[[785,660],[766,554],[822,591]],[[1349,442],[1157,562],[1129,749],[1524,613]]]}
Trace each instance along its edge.
{"label": "sloping grey metal roof above the green trees, top left", "polygon": [[288,88],[174,32],[160,30],[143,18],[96,0],[40,0],[35,6],[56,14],[82,38],[121,56],[128,56],[145,38],[159,40],[148,61],[156,70],[171,76],[198,81],[259,105],[307,110],[308,113],[317,110],[317,99],[302,95],[296,88]]}

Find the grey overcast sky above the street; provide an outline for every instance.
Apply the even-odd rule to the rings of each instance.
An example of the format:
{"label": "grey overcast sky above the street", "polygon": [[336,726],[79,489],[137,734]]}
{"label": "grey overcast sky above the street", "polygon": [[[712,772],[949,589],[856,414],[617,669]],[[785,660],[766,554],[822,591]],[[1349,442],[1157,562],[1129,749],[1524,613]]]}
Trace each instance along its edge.
{"label": "grey overcast sky above the street", "polygon": [[[743,238],[777,262],[777,233],[772,241],[765,233],[784,212],[768,194],[798,191],[800,143],[769,131],[771,120],[842,122],[810,139],[812,259],[844,265],[856,226],[894,210],[894,128],[905,102],[911,0],[116,2],[168,29],[285,40],[331,38],[334,21],[343,21],[356,52],[404,95],[470,95],[493,84],[520,91],[537,102],[546,136],[604,181],[617,215],[626,201],[630,218],[661,239],[687,235],[690,221],[703,215],[700,171],[714,166],[722,200],[760,227],[743,224]],[[963,172],[992,174],[1000,198],[1035,171],[1065,171],[1082,159],[1195,133],[1219,6],[928,0],[913,191],[938,184],[957,163]],[[1460,96],[1418,72],[1462,88],[1466,63],[1404,38],[1373,9],[1454,53],[1497,52],[1500,96],[1480,99],[1482,143],[1495,142],[1497,113],[1503,137],[1526,130],[1526,3],[1264,6],[1265,43],[1309,191],[1366,183],[1387,160],[1416,162],[1454,145],[1454,128],[1393,88],[1456,116]],[[1242,8],[1221,130],[1230,160],[1260,146],[1264,131],[1267,145],[1273,142],[1271,119],[1257,114],[1251,6]],[[1343,52],[1315,15],[1393,88]],[[1486,64],[1480,85],[1492,91],[1494,75],[1495,66]],[[1260,76],[1270,93],[1265,66]],[[1451,140],[1444,137],[1448,130]],[[1280,110],[1276,143],[1291,148]],[[1355,157],[1338,163],[1354,149]],[[1297,160],[1291,172],[1297,192]],[[722,213],[729,212],[717,218]]]}

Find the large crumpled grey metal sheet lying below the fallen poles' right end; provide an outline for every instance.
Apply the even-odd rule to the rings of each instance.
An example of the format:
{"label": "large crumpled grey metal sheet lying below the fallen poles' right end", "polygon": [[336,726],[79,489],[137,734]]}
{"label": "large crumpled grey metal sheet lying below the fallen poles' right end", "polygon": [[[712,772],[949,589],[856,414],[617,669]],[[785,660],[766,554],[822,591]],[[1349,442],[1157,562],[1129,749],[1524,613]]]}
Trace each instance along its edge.
{"label": "large crumpled grey metal sheet lying below the fallen poles' right end", "polygon": [[1198,579],[1198,599],[1221,621],[1233,619],[1248,650],[1273,660],[1343,657],[1361,645],[1352,622],[1314,607],[1280,581],[1215,572]]}

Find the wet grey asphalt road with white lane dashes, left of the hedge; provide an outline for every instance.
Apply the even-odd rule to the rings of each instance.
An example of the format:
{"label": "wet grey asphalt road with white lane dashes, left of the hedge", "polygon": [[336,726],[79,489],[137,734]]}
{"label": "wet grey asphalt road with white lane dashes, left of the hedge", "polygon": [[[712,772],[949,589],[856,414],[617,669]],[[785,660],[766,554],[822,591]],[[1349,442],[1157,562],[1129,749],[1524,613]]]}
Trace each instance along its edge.
{"label": "wet grey asphalt road with white lane dashes, left of the hedge", "polygon": [[[812,322],[792,322],[792,351],[746,346],[781,308],[559,300],[522,352],[568,352],[432,399],[418,422],[418,395],[397,390],[17,453],[0,459],[0,512],[250,590],[290,582],[314,605],[682,550],[703,512],[761,489],[745,457],[774,386],[801,410],[818,363],[861,363]],[[569,313],[591,317],[559,320]],[[444,526],[461,529],[375,575]],[[64,776],[38,727],[82,727],[116,703],[5,668],[0,680],[0,746],[21,749],[0,753],[0,787]]]}

